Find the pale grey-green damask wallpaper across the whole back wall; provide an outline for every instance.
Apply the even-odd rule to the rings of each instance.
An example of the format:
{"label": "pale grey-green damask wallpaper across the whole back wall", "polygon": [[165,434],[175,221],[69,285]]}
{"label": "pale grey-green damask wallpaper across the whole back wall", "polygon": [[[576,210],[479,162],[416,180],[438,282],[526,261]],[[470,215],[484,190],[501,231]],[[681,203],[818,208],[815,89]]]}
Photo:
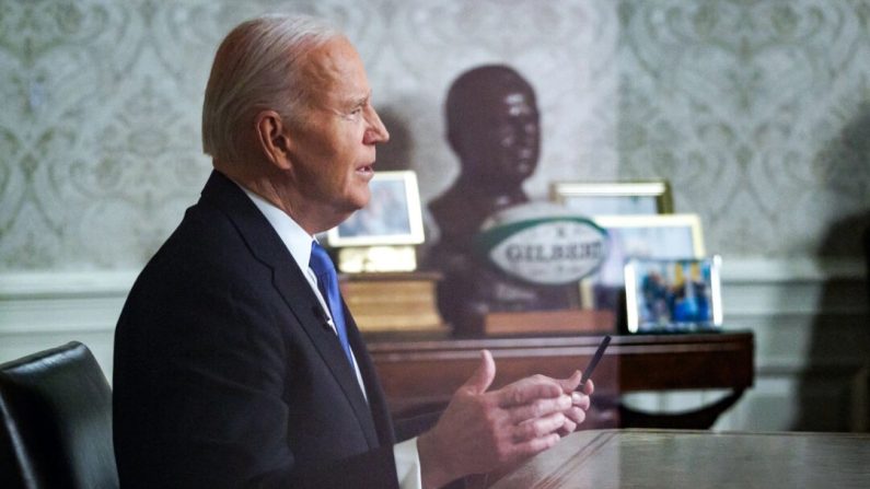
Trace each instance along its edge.
{"label": "pale grey-green damask wallpaper across the whole back wall", "polygon": [[[267,11],[341,26],[421,198],[459,172],[452,80],[533,84],[557,179],[665,177],[726,256],[857,256],[870,222],[870,0],[0,0],[0,271],[140,267],[209,172],[221,37]],[[429,235],[437,233],[429,224]]]}

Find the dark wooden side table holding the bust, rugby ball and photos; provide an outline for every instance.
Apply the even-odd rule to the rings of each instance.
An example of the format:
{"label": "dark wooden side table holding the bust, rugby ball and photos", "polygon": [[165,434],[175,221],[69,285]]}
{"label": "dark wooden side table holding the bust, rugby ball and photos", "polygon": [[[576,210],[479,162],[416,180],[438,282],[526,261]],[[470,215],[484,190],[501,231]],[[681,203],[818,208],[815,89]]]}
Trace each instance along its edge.
{"label": "dark wooden side table holding the bust, rugby ball and photos", "polygon": [[[582,369],[600,336],[513,338],[367,338],[395,416],[442,409],[472,374],[479,350],[496,360],[494,388],[541,373],[565,377]],[[588,427],[709,428],[753,383],[752,333],[614,336],[593,375]],[[628,392],[728,388],[732,394],[691,414],[648,415],[619,403]]]}

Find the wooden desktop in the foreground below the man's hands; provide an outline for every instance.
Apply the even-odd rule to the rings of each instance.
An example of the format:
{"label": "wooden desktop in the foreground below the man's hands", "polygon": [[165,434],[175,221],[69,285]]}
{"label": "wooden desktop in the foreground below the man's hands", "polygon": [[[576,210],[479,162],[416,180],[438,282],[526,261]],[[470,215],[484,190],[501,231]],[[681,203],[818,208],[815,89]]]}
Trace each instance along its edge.
{"label": "wooden desktop in the foreground below the man's hands", "polygon": [[870,487],[868,461],[868,434],[592,430],[495,482],[490,475],[488,487],[862,489]]}

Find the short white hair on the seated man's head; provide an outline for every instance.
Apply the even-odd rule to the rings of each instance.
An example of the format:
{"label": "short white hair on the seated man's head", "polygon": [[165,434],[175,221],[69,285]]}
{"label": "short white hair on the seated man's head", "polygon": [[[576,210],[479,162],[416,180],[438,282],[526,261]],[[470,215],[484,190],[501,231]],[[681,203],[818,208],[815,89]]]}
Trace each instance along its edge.
{"label": "short white hair on the seated man's head", "polygon": [[243,22],[214,55],[202,102],[202,151],[222,163],[240,163],[239,140],[264,109],[294,121],[304,95],[300,72],[312,49],[341,33],[306,15],[271,14]]}

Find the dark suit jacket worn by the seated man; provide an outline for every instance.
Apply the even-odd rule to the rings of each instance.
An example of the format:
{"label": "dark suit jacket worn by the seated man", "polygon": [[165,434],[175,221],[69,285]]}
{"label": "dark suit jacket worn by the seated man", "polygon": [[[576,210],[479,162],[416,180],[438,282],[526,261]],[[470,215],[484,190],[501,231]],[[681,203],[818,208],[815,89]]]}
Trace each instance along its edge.
{"label": "dark suit jacket worn by the seated man", "polygon": [[396,487],[384,396],[346,315],[368,404],[278,234],[213,172],[118,321],[121,487]]}

